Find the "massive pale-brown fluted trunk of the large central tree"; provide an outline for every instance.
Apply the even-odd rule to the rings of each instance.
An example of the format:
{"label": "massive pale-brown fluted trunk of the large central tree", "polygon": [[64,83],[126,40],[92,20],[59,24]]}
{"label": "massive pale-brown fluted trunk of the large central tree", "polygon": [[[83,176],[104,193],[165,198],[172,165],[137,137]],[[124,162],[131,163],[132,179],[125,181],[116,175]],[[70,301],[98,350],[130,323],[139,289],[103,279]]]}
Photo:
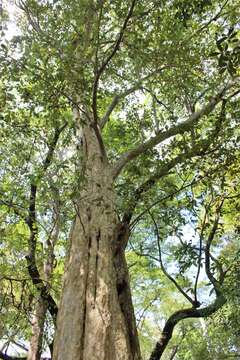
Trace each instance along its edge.
{"label": "massive pale-brown fluted trunk of the large central tree", "polygon": [[76,204],[54,360],[139,360],[111,169],[93,126],[82,137],[84,180]]}

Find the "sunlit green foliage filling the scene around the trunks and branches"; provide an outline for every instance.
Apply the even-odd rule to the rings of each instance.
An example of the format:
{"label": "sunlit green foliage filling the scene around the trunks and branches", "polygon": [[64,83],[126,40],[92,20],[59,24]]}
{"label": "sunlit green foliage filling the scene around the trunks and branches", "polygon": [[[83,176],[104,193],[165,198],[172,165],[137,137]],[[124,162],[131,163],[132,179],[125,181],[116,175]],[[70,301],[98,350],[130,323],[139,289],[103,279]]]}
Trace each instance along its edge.
{"label": "sunlit green foliage filling the scene around the trunks and branches", "polygon": [[[1,39],[0,334],[6,341],[29,341],[29,320],[39,296],[26,261],[33,185],[36,266],[59,301],[68,235],[85,181],[72,109],[80,98],[80,110],[92,113],[97,71],[111,56],[130,5],[128,0],[26,0],[18,10],[19,35]],[[136,2],[98,83],[99,119],[118,95],[102,130],[111,165],[150,137],[189,119],[217,89],[237,80],[239,9],[239,0]],[[7,25],[5,11],[3,20]],[[176,346],[175,358],[182,360],[210,360],[239,349],[239,105],[236,85],[190,131],[146,149],[116,180],[119,218],[132,211],[127,260],[144,359],[167,318],[190,306],[166,271],[193,296],[199,269],[198,299],[205,305],[214,297],[204,272],[204,248],[223,198],[211,244],[211,271],[219,278],[221,267],[227,270],[222,291],[228,302],[206,321],[206,329],[198,321],[179,325],[164,356],[170,358]],[[194,149],[198,151],[190,156]],[[166,169],[168,164],[173,165]],[[46,280],[49,254],[53,267]],[[49,314],[46,323],[45,345],[53,336]]]}

